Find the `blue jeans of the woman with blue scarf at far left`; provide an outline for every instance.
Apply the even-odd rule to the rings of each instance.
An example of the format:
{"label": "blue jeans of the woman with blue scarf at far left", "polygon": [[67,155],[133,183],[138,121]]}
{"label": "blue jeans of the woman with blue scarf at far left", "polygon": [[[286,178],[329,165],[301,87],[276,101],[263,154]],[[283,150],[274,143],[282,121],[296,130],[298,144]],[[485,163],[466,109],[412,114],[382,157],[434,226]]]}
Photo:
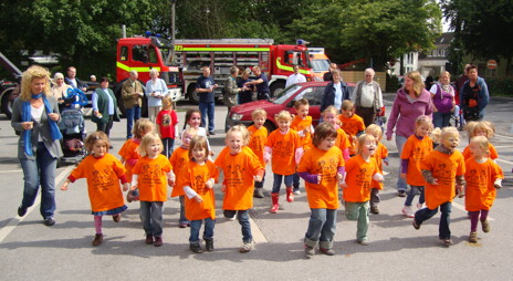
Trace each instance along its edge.
{"label": "blue jeans of the woman with blue scarf at far left", "polygon": [[39,186],[41,185],[40,212],[43,219],[52,217],[55,211],[55,168],[57,159],[50,155],[44,143],[38,143],[35,159],[20,159],[23,169],[22,207],[34,205]]}

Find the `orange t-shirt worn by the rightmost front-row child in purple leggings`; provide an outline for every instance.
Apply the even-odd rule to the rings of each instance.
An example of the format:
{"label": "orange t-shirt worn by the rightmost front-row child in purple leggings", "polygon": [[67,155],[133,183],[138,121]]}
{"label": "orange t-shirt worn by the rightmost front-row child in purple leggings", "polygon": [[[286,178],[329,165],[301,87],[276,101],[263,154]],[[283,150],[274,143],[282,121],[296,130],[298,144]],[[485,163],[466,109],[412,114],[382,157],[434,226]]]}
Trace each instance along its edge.
{"label": "orange t-shirt worn by the rightmost front-row child in purple leggings", "polygon": [[495,179],[504,178],[501,167],[490,158],[484,163],[470,158],[465,162],[465,209],[490,210],[496,196],[493,184]]}

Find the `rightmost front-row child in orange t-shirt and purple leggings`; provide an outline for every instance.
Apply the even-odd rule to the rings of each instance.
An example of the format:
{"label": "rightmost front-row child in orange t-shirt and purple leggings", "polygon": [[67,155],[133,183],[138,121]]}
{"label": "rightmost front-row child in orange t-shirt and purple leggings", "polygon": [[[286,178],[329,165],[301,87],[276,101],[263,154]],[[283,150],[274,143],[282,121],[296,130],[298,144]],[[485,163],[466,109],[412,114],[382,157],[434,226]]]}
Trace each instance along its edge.
{"label": "rightmost front-row child in orange t-shirt and purple leggings", "polygon": [[495,200],[496,189],[501,188],[504,174],[499,165],[488,158],[490,146],[485,136],[472,137],[469,149],[473,157],[465,162],[465,209],[470,214],[469,241],[475,243],[479,220],[483,232],[490,231],[486,217]]}

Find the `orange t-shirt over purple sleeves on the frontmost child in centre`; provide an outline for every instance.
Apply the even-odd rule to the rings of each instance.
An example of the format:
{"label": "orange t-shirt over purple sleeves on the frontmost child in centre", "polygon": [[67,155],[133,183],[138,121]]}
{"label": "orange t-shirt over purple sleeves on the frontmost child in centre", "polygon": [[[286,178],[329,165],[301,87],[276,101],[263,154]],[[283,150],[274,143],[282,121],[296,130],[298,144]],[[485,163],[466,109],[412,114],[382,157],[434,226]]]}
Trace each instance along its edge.
{"label": "orange t-shirt over purple sleeves on the frontmost child in centre", "polygon": [[310,208],[338,208],[338,180],[336,174],[338,167],[343,167],[344,164],[342,152],[336,146],[333,146],[329,150],[321,150],[314,146],[303,155],[297,173],[307,171],[313,175],[321,175],[321,183],[318,184],[311,184],[305,180]]}

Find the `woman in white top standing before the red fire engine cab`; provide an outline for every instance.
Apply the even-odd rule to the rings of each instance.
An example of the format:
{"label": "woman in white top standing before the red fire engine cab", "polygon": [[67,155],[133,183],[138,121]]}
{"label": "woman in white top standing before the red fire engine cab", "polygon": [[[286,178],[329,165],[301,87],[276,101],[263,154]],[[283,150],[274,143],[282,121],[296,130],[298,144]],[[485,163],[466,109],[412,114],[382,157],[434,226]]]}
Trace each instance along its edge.
{"label": "woman in white top standing before the red fire engine cab", "polygon": [[146,97],[148,97],[148,118],[155,123],[163,108],[163,97],[167,95],[166,81],[158,77],[156,69],[149,70],[149,80],[146,82]]}

